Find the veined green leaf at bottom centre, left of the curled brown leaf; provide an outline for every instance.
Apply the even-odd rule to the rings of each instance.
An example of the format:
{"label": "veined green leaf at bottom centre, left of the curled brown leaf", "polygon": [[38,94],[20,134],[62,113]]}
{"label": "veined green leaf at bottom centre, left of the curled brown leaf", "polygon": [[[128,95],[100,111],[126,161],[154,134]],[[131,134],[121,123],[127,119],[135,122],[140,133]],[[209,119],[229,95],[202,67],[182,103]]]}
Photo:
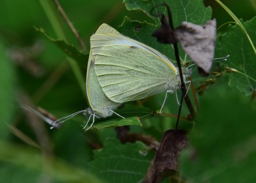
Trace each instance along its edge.
{"label": "veined green leaf at bottom centre, left of the curled brown leaf", "polygon": [[140,141],[122,144],[117,139],[107,139],[88,166],[106,182],[140,182],[152,158]]}

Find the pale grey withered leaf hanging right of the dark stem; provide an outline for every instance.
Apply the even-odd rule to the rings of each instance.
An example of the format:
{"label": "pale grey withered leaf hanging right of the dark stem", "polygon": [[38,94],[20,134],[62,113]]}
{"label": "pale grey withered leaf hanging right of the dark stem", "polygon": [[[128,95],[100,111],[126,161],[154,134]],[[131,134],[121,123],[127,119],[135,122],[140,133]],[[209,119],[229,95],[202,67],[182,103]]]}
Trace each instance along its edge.
{"label": "pale grey withered leaf hanging right of the dark stem", "polygon": [[182,22],[175,29],[175,36],[182,49],[198,65],[202,76],[208,76],[214,58],[216,41],[216,20],[209,20],[204,26]]}

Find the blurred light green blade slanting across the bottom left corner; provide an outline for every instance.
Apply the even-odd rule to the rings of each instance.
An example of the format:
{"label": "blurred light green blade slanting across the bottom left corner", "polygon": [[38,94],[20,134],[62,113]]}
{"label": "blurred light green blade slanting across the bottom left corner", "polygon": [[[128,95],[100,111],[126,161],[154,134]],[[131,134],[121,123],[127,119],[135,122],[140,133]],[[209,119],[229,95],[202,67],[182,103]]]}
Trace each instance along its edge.
{"label": "blurred light green blade slanting across the bottom left corner", "polygon": [[[101,182],[92,173],[84,169],[79,169],[71,164],[67,164],[58,159],[47,159],[46,156],[42,157],[41,152],[35,152],[31,148],[15,145],[13,143],[6,143],[0,141],[0,161],[2,173],[0,180],[8,180],[7,182],[15,182],[16,177],[12,177],[10,174],[3,174],[8,170],[20,170],[26,175],[31,174],[31,179],[28,182],[36,182],[40,179],[40,176],[45,175],[47,179],[52,179],[61,182]],[[19,153],[17,153],[19,152]],[[29,171],[29,173],[28,173]],[[19,175],[17,172],[13,175]],[[6,177],[10,176],[10,177]],[[24,177],[22,179],[24,180]]]}

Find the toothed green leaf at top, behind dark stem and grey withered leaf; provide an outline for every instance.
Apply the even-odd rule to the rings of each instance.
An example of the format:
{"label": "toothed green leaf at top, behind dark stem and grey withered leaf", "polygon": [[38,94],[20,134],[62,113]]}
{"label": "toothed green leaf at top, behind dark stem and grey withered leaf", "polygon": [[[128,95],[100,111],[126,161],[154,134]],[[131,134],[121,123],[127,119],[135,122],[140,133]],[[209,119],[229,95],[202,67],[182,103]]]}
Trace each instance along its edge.
{"label": "toothed green leaf at top, behind dark stem and grey withered leaf", "polygon": [[[128,17],[124,18],[124,22],[120,27],[120,33],[134,38],[144,44],[153,47],[157,51],[160,51],[166,55],[171,60],[175,60],[175,55],[173,52],[173,47],[171,45],[164,45],[157,42],[156,38],[152,36],[152,33],[160,26],[159,18],[153,17],[150,11],[152,8],[155,10],[154,14],[164,13],[167,16],[165,6],[158,6],[158,4],[163,4],[163,1],[134,1],[134,0],[124,0],[127,10],[142,10],[149,17],[152,17],[156,20],[156,24],[150,24],[148,22],[138,22],[132,21]],[[205,24],[207,20],[211,19],[211,8],[205,8],[203,1],[201,0],[172,0],[165,1],[170,6],[172,12],[172,19],[175,28],[180,25],[183,21],[192,22],[194,24]],[[186,56],[185,52],[179,48],[180,58],[183,61],[188,61],[189,57]]]}

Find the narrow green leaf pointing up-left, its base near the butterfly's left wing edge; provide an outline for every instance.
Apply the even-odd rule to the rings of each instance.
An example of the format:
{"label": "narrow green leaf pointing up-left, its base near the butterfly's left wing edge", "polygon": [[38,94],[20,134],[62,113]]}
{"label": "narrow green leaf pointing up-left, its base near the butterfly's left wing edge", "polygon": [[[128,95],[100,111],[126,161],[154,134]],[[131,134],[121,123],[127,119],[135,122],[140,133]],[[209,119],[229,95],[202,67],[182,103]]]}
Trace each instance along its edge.
{"label": "narrow green leaf pointing up-left, its base near the butterfly's left wing edge", "polygon": [[54,43],[57,47],[59,47],[67,56],[70,58],[73,58],[76,61],[79,61],[81,63],[84,63],[88,60],[88,56],[86,54],[83,54],[79,52],[74,45],[69,45],[63,40],[56,40],[54,38],[51,38],[43,28],[35,28],[36,31],[42,33],[48,40],[50,40],[52,43]]}

